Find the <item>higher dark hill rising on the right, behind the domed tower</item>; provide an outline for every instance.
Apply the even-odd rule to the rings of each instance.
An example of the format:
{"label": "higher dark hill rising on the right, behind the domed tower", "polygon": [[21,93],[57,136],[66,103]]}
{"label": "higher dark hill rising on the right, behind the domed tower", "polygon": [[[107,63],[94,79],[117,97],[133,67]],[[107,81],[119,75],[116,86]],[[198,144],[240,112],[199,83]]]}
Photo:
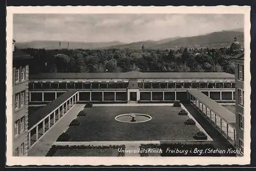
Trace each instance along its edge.
{"label": "higher dark hill rising on the right, behind the domed tower", "polygon": [[158,44],[151,47],[145,47],[146,49],[175,49],[180,47],[189,47],[189,48],[218,48],[218,47],[227,47],[230,46],[230,43],[233,41],[234,36],[237,37],[238,41],[243,43],[244,33],[237,31],[223,31],[223,32],[214,32],[206,35],[193,36],[193,37],[182,37],[173,41],[168,41],[163,44]]}

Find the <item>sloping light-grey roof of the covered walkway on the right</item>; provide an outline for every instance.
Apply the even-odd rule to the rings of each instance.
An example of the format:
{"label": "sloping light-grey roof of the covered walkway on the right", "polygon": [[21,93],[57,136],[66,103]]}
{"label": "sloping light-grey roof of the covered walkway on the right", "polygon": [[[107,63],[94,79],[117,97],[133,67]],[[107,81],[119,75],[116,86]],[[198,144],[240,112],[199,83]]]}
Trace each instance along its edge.
{"label": "sloping light-grey roof of the covered walkway on the right", "polygon": [[190,89],[188,93],[196,97],[198,100],[202,101],[208,108],[217,113],[220,117],[226,120],[227,123],[236,123],[236,115],[229,111],[224,106],[217,103],[215,100],[207,97],[205,94],[201,93],[197,89]]}

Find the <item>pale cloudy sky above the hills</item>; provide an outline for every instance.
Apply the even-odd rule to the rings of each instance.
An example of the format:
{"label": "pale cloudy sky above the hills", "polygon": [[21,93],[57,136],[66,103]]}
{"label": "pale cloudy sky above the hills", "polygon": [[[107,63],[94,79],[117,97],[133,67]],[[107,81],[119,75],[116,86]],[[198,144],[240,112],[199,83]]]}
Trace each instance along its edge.
{"label": "pale cloudy sky above the hills", "polygon": [[160,40],[244,27],[241,14],[14,14],[18,42]]}

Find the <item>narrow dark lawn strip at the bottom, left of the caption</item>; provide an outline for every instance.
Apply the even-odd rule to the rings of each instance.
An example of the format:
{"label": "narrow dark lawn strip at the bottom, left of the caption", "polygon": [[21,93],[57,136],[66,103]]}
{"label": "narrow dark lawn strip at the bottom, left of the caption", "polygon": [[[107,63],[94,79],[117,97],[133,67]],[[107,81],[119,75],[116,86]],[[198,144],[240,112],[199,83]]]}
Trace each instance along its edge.
{"label": "narrow dark lawn strip at the bottom, left of the caption", "polygon": [[116,157],[118,149],[57,149],[53,156]]}

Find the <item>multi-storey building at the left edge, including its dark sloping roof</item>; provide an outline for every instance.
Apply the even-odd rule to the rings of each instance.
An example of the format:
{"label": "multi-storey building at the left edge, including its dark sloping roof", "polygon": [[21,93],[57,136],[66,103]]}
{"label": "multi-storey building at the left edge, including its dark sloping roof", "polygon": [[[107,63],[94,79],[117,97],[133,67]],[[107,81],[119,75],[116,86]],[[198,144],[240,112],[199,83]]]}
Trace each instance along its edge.
{"label": "multi-storey building at the left edge, including its dark sloping roof", "polygon": [[26,156],[28,149],[28,81],[31,56],[19,51],[13,40],[13,156]]}

